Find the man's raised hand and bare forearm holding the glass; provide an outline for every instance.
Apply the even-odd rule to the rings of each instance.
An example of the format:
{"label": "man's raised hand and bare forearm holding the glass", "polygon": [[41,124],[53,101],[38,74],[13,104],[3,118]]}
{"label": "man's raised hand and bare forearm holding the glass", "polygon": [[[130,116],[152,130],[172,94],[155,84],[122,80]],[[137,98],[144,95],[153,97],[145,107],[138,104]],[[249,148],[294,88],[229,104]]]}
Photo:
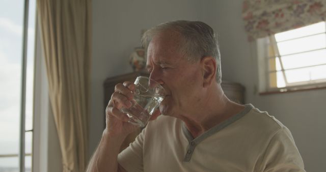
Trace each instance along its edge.
{"label": "man's raised hand and bare forearm holding the glass", "polygon": [[127,115],[121,108],[131,106],[132,91],[135,85],[131,82],[119,83],[108,102],[106,113],[106,127],[101,141],[92,156],[87,171],[126,171],[118,163],[118,154],[125,137],[138,127],[128,123]]}

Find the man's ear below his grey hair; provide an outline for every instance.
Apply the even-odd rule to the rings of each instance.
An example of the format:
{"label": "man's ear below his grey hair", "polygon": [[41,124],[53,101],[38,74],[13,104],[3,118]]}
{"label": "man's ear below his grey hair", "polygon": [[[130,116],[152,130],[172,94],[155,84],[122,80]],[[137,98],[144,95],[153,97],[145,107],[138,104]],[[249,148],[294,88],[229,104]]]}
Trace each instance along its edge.
{"label": "man's ear below his grey hair", "polygon": [[203,87],[208,87],[216,77],[216,61],[211,56],[206,56],[201,60]]}

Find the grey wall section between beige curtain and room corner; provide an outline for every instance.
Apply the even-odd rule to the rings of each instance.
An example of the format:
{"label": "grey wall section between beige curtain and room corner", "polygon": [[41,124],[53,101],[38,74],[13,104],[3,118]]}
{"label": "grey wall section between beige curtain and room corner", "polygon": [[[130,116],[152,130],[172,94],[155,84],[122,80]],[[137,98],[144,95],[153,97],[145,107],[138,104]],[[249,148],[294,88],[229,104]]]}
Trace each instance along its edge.
{"label": "grey wall section between beige curtain and room corner", "polygon": [[199,20],[200,1],[93,1],[92,103],[90,155],[103,131],[103,81],[132,72],[129,55],[140,44],[141,30],[161,22]]}

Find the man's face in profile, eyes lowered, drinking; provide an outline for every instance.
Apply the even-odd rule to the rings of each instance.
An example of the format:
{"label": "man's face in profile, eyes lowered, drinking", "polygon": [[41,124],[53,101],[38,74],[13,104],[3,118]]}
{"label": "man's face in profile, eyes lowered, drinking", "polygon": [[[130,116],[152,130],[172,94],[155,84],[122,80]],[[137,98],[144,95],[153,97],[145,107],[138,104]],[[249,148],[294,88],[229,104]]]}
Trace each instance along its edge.
{"label": "man's face in profile, eyes lowered, drinking", "polygon": [[164,32],[151,40],[147,52],[150,78],[167,91],[160,111],[174,117],[187,115],[197,108],[203,80],[200,62],[187,61],[177,50],[179,44],[177,33]]}

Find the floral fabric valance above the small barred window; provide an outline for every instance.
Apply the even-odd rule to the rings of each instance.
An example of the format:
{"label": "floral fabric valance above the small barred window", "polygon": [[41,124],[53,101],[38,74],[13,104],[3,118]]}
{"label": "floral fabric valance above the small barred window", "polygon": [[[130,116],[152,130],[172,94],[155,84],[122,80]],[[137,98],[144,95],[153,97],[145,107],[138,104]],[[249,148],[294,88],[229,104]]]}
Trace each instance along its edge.
{"label": "floral fabric valance above the small barred window", "polygon": [[249,41],[326,19],[325,0],[246,0],[242,18]]}

